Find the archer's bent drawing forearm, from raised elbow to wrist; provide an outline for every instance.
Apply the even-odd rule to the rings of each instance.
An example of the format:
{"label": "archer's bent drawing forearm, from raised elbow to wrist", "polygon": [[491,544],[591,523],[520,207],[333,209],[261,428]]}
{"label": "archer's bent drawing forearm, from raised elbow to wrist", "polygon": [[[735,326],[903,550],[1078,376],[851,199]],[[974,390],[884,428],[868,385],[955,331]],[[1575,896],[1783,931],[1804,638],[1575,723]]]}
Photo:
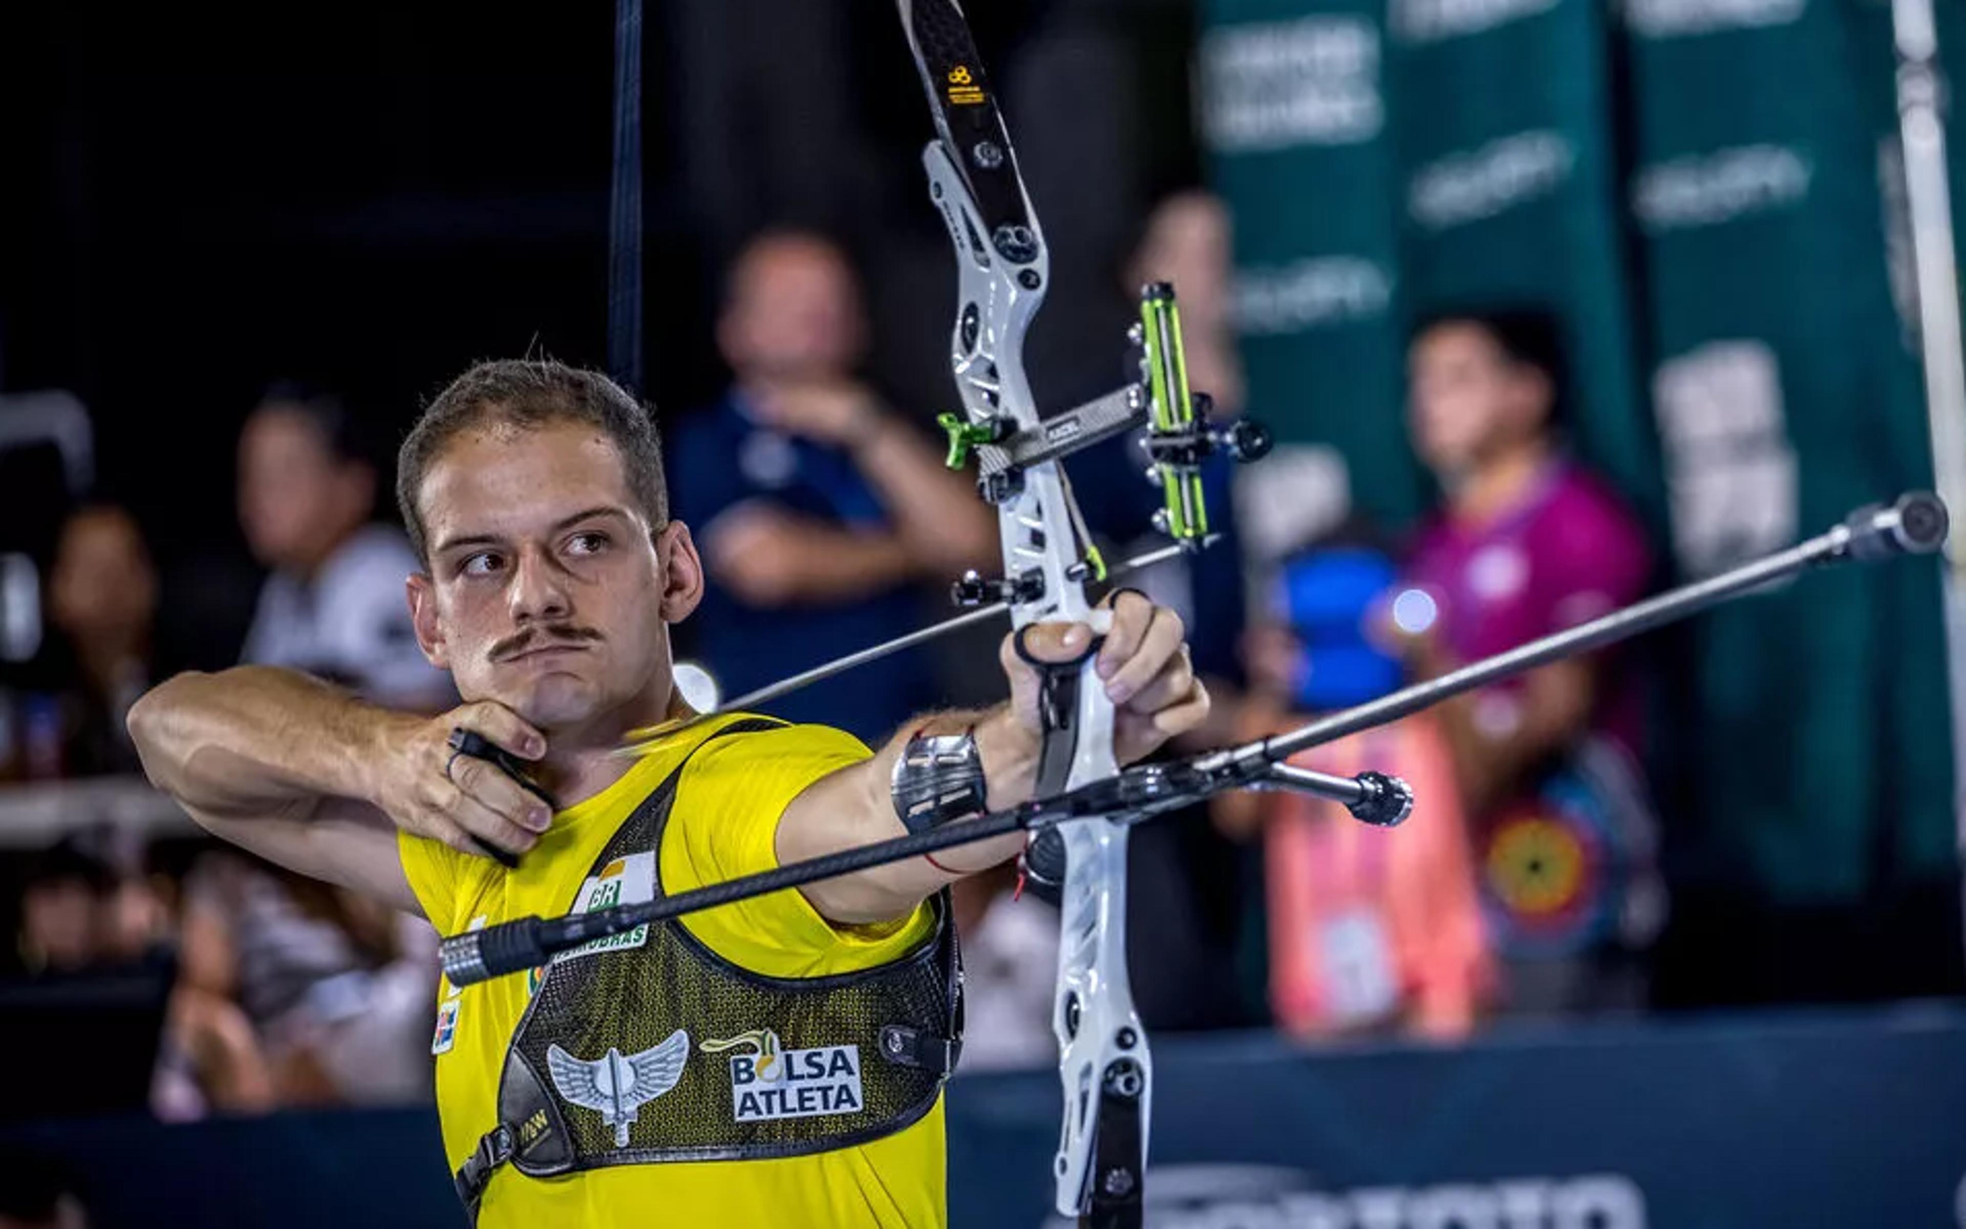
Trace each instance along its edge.
{"label": "archer's bent drawing forearm, from raised elbow to wrist", "polygon": [[130,710],[130,735],[151,783],[210,816],[368,798],[377,739],[401,724],[419,718],[273,667],[179,674]]}

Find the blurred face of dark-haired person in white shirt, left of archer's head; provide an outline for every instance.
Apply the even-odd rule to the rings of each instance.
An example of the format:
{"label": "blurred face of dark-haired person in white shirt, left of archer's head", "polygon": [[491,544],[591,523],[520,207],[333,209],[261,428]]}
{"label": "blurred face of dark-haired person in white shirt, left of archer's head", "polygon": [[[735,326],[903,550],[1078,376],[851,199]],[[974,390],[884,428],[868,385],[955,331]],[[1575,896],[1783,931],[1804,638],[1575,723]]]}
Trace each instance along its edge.
{"label": "blurred face of dark-haired person in white shirt, left of archer's head", "polygon": [[254,558],[311,570],[362,523],[374,478],[334,456],[305,413],[267,405],[240,435],[240,525]]}

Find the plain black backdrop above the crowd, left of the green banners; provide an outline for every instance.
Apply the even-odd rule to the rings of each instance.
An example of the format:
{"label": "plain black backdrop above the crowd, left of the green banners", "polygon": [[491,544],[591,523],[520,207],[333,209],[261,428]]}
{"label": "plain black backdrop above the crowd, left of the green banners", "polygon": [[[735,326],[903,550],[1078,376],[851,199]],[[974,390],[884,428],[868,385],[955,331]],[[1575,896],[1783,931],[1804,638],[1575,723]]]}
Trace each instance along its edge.
{"label": "plain black backdrop above the crowd, left of the green banners", "polygon": [[[1195,173],[1193,14],[973,8],[1064,265],[1034,381],[1101,389],[1113,364],[1077,356],[1117,362],[1117,332],[1085,340],[1123,326],[1132,220]],[[659,413],[716,391],[718,267],[788,222],[859,258],[873,378],[924,423],[946,409],[954,273],[893,6],[651,2],[643,67],[643,393]],[[0,389],[88,405],[98,494],[132,505],[161,556],[165,665],[228,665],[244,633],[256,576],[232,458],[267,381],[340,389],[387,462],[419,401],[476,358],[606,360],[611,4],[220,16],[28,0],[0,8]],[[20,458],[0,472],[0,549],[45,560],[49,494]]]}

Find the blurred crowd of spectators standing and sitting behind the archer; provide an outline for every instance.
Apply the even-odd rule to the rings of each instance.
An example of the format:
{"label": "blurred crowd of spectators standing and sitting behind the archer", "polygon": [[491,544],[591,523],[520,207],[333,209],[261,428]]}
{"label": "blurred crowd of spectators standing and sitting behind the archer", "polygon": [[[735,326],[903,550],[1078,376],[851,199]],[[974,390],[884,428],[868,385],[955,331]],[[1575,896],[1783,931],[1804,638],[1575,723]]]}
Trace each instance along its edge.
{"label": "blurred crowd of spectators standing and sitting behind the archer", "polygon": [[[1227,214],[1189,191],[1154,210],[1113,287],[1119,299],[1176,283],[1189,378],[1225,421],[1262,415],[1246,405],[1227,273]],[[995,513],[924,431],[942,407],[891,405],[863,376],[869,324],[847,252],[767,232],[729,267],[720,311],[729,387],[665,415],[663,431],[672,505],[710,576],[680,629],[686,655],[731,696],[912,631],[924,596],[967,568],[995,572],[999,547]],[[1215,458],[1203,482],[1221,539],[1128,578],[1184,614],[1215,696],[1211,728],[1184,749],[1372,700],[1653,584],[1638,521],[1565,448],[1547,315],[1510,305],[1419,322],[1408,385],[1414,454],[1439,494],[1417,527],[1343,515],[1315,466],[1286,462],[1286,480],[1264,482],[1262,466]],[[1134,440],[1068,470],[1109,558],[1150,539]],[[275,385],[250,409],[238,515],[267,576],[238,657],[438,712],[454,694],[415,641],[403,580],[417,564],[376,519],[383,478],[330,391]],[[0,696],[0,783],[142,771],[124,716],[159,674],[149,533],[112,501],[63,525],[43,647]],[[879,741],[912,712],[987,690],[995,635],[895,655],[769,712]],[[1636,682],[1618,653],[1571,659],[1300,757],[1414,783],[1419,808],[1396,832],[1278,794],[1138,828],[1130,942],[1146,1023],[1453,1040],[1502,1017],[1644,1009],[1667,893]],[[421,920],[189,832],[79,828],[10,863],[12,983],[159,969],[155,1113],[429,1095],[436,969]],[[955,910],[965,1066],[1048,1062],[1056,918],[1016,893],[1012,869],[959,883]]]}

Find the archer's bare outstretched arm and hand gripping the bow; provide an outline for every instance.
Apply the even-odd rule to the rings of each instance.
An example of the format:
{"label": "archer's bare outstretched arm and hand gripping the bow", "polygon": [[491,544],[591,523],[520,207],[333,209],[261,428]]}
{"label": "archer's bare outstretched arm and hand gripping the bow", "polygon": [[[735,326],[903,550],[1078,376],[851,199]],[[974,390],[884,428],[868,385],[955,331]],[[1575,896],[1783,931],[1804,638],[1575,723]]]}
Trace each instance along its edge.
{"label": "archer's bare outstretched arm and hand gripping the bow", "polygon": [[[1119,763],[1148,755],[1172,735],[1201,724],[1209,696],[1187,663],[1182,619],[1123,590],[1109,600],[1113,627],[1097,653],[1097,674],[1113,700],[1113,753]],[[1012,633],[1014,637],[1016,633]],[[859,761],[812,783],[779,820],[781,863],[822,857],[906,834],[895,808],[895,765],[918,735],[961,735],[973,730],[983,767],[985,804],[1016,806],[1032,796],[1042,730],[1038,724],[1038,671],[1018,659],[1005,637],[999,659],[1011,682],[1011,700],[977,712],[942,712],[916,718]],[[1024,633],[1026,651],[1038,661],[1068,663],[1085,653],[1091,629],[1083,623],[1034,623]],[[1024,834],[955,846],[928,857],[857,871],[800,889],[830,922],[851,926],[906,916],[926,897],[954,879],[1014,857]]]}

